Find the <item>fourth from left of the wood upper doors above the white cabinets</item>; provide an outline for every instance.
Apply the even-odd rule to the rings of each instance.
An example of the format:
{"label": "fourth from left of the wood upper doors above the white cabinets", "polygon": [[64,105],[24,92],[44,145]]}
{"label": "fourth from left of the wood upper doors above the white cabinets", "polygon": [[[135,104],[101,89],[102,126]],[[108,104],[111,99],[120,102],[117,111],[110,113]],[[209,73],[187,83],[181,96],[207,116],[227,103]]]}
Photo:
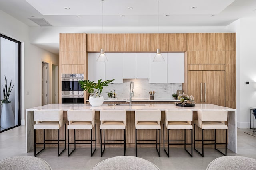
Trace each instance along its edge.
{"label": "fourth from left of the wood upper doors above the white cabinets", "polygon": [[148,52],[151,50],[150,34],[137,34],[137,49],[138,52]]}

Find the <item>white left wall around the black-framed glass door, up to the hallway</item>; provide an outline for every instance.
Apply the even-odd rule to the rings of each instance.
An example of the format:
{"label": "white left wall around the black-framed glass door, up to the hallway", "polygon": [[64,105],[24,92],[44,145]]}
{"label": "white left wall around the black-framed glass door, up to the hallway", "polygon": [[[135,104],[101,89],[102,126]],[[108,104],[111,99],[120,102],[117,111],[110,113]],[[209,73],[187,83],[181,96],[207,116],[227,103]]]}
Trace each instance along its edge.
{"label": "white left wall around the black-framed glass door, up to the hallway", "polygon": [[0,10],[0,23],[1,34],[22,42],[21,121],[24,125],[25,109],[40,106],[41,103],[41,63],[45,61],[58,65],[58,56],[31,45],[29,39],[30,28],[2,10]]}

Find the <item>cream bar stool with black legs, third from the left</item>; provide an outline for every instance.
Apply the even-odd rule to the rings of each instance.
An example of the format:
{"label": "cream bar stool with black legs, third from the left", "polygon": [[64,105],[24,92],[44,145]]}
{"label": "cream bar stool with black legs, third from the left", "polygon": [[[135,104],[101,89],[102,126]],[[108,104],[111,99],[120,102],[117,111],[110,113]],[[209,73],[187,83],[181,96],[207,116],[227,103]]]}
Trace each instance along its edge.
{"label": "cream bar stool with black legs, third from the left", "polygon": [[[126,138],[125,138],[125,127],[126,127],[126,110],[100,110],[100,152],[101,157],[105,151],[105,145],[124,145],[124,155],[126,150]],[[124,129],[124,140],[105,140],[105,129]],[[103,140],[102,143],[102,130]],[[108,141],[124,141],[124,143],[106,143]],[[102,145],[104,150],[102,151]]]}

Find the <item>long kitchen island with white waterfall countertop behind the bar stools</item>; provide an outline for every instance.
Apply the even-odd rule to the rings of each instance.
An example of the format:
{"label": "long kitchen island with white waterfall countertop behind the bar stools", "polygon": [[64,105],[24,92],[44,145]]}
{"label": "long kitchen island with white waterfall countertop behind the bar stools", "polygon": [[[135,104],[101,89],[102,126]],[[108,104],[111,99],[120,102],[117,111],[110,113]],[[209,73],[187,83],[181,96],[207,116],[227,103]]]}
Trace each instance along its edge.
{"label": "long kitchen island with white waterfall countertop behind the bar stools", "polygon": [[[237,137],[236,137],[236,109],[223,107],[223,106],[217,106],[214,104],[196,104],[195,107],[179,107],[175,106],[175,104],[132,104],[132,106],[129,106],[129,104],[103,104],[102,106],[93,107],[90,104],[48,104],[44,106],[38,106],[30,109],[26,109],[26,152],[29,152],[30,150],[34,149],[34,111],[37,109],[63,109],[64,110],[64,119],[66,119],[66,111],[70,109],[75,110],[82,110],[82,109],[94,109],[95,112],[95,121],[96,121],[96,127],[97,127],[97,139],[96,142],[99,143],[99,111],[101,109],[125,109],[126,110],[126,131],[127,131],[127,137],[126,137],[126,143],[129,147],[133,147],[135,140],[135,123],[134,123],[134,111],[136,109],[160,109],[161,114],[161,125],[164,122],[164,110],[165,109],[191,109],[193,111],[193,120],[197,119],[197,110],[198,109],[224,109],[228,111],[228,149],[232,152],[237,152]],[[68,121],[66,121],[68,123]],[[112,138],[115,138],[115,136],[119,136],[118,132],[111,132],[110,135]],[[162,132],[161,132],[162,133]],[[181,132],[177,132],[176,137],[179,138]],[[146,138],[150,139],[154,136],[154,133],[144,134],[142,132],[140,134],[141,136],[145,136]],[[163,136],[163,135],[161,135]],[[197,136],[199,136],[197,134]],[[212,132],[208,133],[209,137],[212,137]],[[84,136],[83,136],[84,137]],[[175,136],[174,136],[175,137]],[[190,138],[191,139],[191,138]],[[188,139],[189,140],[189,139]],[[161,139],[161,143],[163,143],[163,140]]]}

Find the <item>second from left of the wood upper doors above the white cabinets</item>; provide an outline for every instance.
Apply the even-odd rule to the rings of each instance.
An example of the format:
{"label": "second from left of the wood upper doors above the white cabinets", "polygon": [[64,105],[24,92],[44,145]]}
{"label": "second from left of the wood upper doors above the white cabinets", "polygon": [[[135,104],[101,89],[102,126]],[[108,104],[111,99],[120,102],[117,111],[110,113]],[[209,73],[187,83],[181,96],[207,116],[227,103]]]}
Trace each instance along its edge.
{"label": "second from left of the wood upper doors above the white cabinets", "polygon": [[106,52],[122,52],[122,34],[104,34]]}

